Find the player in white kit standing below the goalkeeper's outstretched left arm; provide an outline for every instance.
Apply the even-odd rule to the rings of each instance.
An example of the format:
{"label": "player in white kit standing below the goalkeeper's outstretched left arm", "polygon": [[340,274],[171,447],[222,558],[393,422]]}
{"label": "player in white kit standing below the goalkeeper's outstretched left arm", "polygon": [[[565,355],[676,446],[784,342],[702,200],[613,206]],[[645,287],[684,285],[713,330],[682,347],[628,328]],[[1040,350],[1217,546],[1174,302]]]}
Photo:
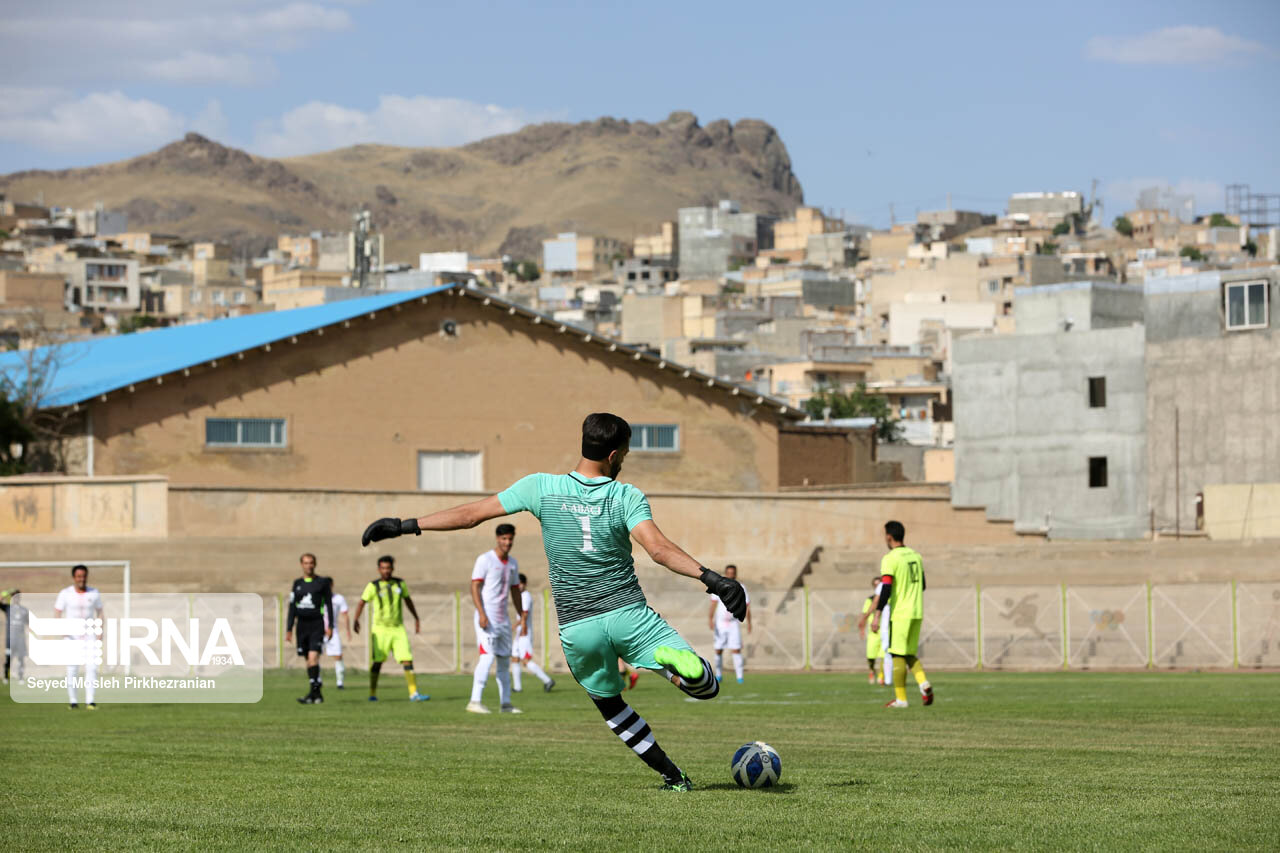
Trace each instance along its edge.
{"label": "player in white kit standing below the goalkeeper's outstretched left arm", "polygon": [[471,713],[489,713],[480,703],[484,685],[489,681],[489,669],[494,661],[498,666],[498,706],[502,713],[520,713],[511,707],[511,670],[506,666],[511,657],[511,620],[507,617],[507,596],[516,603],[516,617],[522,616],[520,601],[520,565],[511,556],[511,546],[516,540],[516,528],[499,524],[494,532],[497,542],[493,551],[485,551],[476,557],[471,570],[471,601],[476,606],[472,621],[476,628],[476,647],[480,660],[476,661],[475,675],[471,679]]}

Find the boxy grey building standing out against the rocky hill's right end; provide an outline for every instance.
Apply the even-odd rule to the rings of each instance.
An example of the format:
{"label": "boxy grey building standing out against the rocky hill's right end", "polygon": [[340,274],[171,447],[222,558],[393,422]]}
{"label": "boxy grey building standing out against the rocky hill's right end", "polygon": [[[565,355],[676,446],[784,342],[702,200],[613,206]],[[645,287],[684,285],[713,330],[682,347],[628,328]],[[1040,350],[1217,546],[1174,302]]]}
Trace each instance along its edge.
{"label": "boxy grey building standing out against the rocky hill's right end", "polygon": [[774,218],[742,213],[736,201],[681,207],[677,222],[681,278],[719,278],[773,248]]}

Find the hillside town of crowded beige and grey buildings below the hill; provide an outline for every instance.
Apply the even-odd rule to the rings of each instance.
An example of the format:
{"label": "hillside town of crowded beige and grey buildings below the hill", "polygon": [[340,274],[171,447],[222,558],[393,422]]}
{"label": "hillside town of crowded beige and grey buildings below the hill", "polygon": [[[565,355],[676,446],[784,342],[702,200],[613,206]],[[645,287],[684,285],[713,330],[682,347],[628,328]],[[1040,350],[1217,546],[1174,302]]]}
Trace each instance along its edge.
{"label": "hillside town of crowded beige and grey buildings below the hill", "polygon": [[[1198,364],[1212,388],[1213,365],[1248,343],[1235,332],[1270,333],[1275,199],[1236,184],[1221,211],[1197,216],[1196,200],[1151,187],[1105,222],[1092,191],[1019,192],[998,213],[923,210],[887,229],[724,199],[672,210],[631,241],[566,232],[536,257],[438,251],[416,265],[385,259],[367,210],[348,232],[280,233],[248,257],[133,229],[102,205],[4,199],[0,334],[26,350],[454,286],[768,398],[810,428],[867,435],[859,462],[835,474],[797,462],[780,487],[946,483],[957,506],[1020,532],[1139,538],[1203,525],[1202,496],[1166,483],[1162,455],[1172,409],[1194,412],[1211,394],[1174,382],[1185,356],[1167,345],[1207,347]],[[1039,386],[1061,393],[1038,405],[1028,389]],[[1228,452],[1206,448],[1196,464],[1207,474]]]}

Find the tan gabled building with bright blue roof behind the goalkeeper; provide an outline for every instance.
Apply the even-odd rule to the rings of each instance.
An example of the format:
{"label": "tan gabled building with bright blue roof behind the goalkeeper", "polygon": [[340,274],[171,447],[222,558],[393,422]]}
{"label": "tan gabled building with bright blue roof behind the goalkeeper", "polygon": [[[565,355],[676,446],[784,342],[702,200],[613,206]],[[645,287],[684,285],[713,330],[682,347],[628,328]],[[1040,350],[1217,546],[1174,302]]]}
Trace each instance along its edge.
{"label": "tan gabled building with bright blue roof behind the goalkeeper", "polygon": [[795,433],[803,412],[780,401],[461,286],[86,346],[50,405],[84,414],[95,475],[494,492],[570,470],[599,410],[632,424],[625,476],[646,491],[771,492],[792,470],[846,483],[863,465],[827,456],[838,435]]}

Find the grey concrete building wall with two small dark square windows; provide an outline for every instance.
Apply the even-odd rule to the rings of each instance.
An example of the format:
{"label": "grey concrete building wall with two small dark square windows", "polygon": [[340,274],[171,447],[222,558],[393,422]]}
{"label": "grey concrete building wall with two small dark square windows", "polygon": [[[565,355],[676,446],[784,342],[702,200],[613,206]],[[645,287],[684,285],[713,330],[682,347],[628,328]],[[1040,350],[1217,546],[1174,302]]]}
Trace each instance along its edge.
{"label": "grey concrete building wall with two small dark square windows", "polygon": [[[961,338],[955,347],[956,506],[1053,538],[1148,529],[1143,329]],[[1089,407],[1089,377],[1107,400]],[[1089,457],[1107,485],[1089,487]]]}

